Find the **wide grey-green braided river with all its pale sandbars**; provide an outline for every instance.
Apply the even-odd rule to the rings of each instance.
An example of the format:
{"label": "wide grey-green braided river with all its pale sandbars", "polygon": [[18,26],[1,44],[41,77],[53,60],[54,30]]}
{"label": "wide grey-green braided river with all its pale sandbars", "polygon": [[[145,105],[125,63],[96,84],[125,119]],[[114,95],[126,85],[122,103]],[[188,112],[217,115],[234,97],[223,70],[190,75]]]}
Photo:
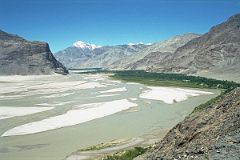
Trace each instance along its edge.
{"label": "wide grey-green braided river with all its pale sandbars", "polygon": [[[0,110],[5,110],[0,120],[1,159],[59,160],[119,139],[130,143],[119,144],[117,150],[149,145],[194,107],[220,94],[216,89],[151,88],[108,76],[0,77]],[[156,96],[164,92],[168,96]],[[29,110],[16,114],[15,109]]]}

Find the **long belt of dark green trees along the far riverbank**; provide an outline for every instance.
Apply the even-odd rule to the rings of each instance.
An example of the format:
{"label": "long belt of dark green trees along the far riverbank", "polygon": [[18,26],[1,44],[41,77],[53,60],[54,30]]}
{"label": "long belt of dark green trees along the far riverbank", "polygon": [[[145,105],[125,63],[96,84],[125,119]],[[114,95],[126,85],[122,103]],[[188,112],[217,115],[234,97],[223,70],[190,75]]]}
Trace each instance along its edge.
{"label": "long belt of dark green trees along the far riverbank", "polygon": [[[86,72],[85,72],[86,73]],[[128,71],[91,71],[87,73],[111,73],[112,78],[142,83],[152,86],[177,86],[177,87],[192,87],[192,88],[211,88],[232,90],[240,87],[240,84],[233,81],[216,80],[211,78],[190,76],[186,74],[176,73],[151,73],[143,70],[128,70]]]}

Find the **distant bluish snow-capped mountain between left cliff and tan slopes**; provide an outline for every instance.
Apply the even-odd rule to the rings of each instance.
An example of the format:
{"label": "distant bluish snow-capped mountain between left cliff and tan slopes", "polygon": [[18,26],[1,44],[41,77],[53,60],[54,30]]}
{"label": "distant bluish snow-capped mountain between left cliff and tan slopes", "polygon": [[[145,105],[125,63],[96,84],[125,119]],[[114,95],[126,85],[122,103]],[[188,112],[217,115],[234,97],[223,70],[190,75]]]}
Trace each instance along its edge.
{"label": "distant bluish snow-capped mountain between left cliff and tan slopes", "polygon": [[97,45],[83,42],[81,46],[73,45],[55,53],[55,56],[68,68],[108,68],[115,61],[135,54],[148,45],[94,46]]}

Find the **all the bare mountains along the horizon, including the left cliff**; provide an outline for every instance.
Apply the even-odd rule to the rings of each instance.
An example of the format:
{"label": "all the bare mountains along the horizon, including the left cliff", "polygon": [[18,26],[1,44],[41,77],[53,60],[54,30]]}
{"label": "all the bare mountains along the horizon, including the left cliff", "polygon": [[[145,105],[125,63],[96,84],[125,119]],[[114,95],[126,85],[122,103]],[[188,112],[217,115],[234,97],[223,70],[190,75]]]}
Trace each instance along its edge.
{"label": "all the bare mountains along the horizon, including the left cliff", "polygon": [[[153,44],[99,46],[75,42],[55,53],[0,30],[0,74],[67,73],[67,68],[144,69],[240,81],[240,14],[198,35],[187,33]],[[60,61],[60,62],[59,62]],[[237,77],[237,78],[234,78]]]}

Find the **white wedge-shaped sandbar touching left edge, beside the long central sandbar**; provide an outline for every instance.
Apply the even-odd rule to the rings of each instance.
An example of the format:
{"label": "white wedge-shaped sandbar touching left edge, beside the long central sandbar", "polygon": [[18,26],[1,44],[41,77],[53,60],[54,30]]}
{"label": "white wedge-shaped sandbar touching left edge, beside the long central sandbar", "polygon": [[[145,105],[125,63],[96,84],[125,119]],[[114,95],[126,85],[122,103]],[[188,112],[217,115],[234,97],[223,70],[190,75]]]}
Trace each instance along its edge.
{"label": "white wedge-shaped sandbar touching left edge, beside the long central sandbar", "polygon": [[0,119],[25,116],[53,108],[54,107],[0,107]]}

